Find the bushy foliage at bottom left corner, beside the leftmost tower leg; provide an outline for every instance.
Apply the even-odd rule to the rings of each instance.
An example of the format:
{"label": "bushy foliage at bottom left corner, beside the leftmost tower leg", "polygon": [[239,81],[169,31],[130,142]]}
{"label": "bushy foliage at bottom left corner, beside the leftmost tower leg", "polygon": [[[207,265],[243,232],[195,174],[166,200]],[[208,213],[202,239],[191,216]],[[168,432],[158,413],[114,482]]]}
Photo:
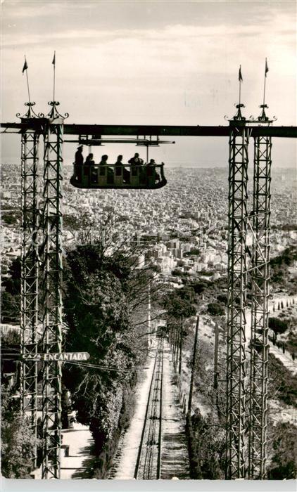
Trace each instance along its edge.
{"label": "bushy foliage at bottom left corner, beside the leftmost tower leg", "polygon": [[19,413],[13,390],[1,389],[1,471],[10,479],[30,478],[36,442],[26,417]]}

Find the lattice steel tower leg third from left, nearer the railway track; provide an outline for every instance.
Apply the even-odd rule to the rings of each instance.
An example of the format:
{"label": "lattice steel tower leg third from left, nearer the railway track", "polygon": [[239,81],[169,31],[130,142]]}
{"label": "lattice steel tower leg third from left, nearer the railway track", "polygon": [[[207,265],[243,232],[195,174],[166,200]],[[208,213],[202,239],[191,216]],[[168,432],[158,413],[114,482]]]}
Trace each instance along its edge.
{"label": "lattice steel tower leg third from left, nearer the railway track", "polygon": [[226,479],[245,477],[248,132],[229,138]]}

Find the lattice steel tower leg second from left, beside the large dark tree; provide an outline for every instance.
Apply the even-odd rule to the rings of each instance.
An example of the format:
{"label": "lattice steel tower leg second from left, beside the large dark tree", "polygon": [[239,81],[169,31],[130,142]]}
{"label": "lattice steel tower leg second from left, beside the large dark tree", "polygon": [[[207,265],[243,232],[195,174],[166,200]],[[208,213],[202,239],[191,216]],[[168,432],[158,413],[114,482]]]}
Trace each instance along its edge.
{"label": "lattice steel tower leg second from left, beside the large dark tree", "polygon": [[[63,119],[44,135],[43,352],[62,350]],[[42,382],[42,478],[61,473],[61,362],[44,361]]]}

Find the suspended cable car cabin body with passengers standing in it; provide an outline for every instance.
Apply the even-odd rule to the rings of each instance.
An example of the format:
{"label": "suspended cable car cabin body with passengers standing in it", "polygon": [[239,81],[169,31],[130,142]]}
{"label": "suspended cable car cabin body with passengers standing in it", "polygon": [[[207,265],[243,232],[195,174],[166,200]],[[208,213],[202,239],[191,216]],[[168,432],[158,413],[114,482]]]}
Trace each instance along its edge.
{"label": "suspended cable car cabin body with passengers standing in it", "polygon": [[72,186],[84,189],[122,188],[154,190],[167,184],[164,164],[74,164]]}

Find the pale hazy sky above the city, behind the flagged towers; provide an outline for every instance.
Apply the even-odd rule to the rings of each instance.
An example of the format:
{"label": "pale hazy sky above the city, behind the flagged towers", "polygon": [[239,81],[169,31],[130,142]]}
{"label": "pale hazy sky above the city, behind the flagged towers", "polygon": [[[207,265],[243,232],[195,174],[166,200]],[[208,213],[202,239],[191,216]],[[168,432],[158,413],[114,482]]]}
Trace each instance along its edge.
{"label": "pale hazy sky above the city, behind the flagged towers", "polygon": [[[296,1],[1,1],[1,122],[25,110],[26,77],[38,111],[56,99],[70,123],[227,124],[238,102],[276,124],[296,125]],[[19,159],[19,136],[2,136],[2,160]],[[134,152],[93,148],[97,157]],[[103,152],[102,152],[103,150]],[[75,147],[65,144],[71,162]],[[87,153],[87,149],[85,150]],[[151,151],[168,165],[227,165],[226,138],[179,138]],[[274,138],[275,165],[296,162],[296,142]]]}

